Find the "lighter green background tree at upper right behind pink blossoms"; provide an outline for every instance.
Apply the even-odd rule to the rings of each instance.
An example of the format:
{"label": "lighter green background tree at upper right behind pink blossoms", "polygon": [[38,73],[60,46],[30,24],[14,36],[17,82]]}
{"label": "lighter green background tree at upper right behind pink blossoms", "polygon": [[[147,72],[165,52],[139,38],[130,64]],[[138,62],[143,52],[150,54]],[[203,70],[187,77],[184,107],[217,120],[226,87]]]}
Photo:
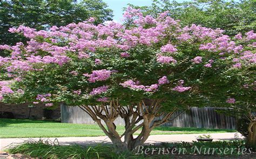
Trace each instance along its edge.
{"label": "lighter green background tree at upper right behind pink blossoms", "polygon": [[246,33],[256,29],[256,2],[197,0],[188,2],[154,0],[151,6],[133,6],[140,8],[145,15],[157,16],[169,11],[169,16],[181,20],[181,25],[202,25],[221,28],[227,35]]}

